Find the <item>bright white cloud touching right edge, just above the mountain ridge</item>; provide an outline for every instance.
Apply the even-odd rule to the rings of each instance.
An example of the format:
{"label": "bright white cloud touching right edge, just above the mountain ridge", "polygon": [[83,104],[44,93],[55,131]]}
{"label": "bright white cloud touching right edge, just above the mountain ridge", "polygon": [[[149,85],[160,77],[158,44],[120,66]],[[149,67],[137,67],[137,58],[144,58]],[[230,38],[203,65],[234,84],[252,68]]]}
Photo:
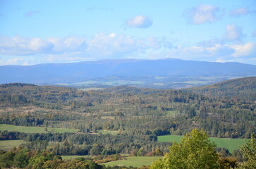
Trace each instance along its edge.
{"label": "bright white cloud touching right edge, just above the mountain ridge", "polygon": [[247,44],[235,44],[230,45],[232,49],[235,50],[235,53],[232,54],[234,57],[255,57],[256,55],[256,44],[248,42]]}

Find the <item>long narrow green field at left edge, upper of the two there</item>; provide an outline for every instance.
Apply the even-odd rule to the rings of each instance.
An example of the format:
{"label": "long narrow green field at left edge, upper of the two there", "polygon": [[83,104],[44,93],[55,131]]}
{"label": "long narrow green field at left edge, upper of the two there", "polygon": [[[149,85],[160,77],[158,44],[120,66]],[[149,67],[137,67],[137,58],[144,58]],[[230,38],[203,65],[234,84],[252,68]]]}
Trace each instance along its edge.
{"label": "long narrow green field at left edge, upper of the two there", "polygon": [[0,124],[0,130],[7,130],[9,132],[25,132],[25,133],[47,133],[47,132],[78,132],[78,129],[68,129],[68,128],[56,128],[56,127],[26,127],[20,125],[6,125]]}

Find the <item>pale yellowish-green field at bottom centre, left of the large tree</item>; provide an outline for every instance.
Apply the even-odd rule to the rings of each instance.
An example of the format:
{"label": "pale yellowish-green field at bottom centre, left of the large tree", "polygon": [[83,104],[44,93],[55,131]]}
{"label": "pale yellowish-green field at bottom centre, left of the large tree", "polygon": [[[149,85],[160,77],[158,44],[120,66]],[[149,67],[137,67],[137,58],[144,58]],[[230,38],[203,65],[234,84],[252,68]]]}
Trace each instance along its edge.
{"label": "pale yellowish-green field at bottom centre, left of the large tree", "polygon": [[153,161],[162,157],[149,157],[149,156],[133,156],[133,157],[126,157],[127,160],[120,160],[120,161],[111,161],[108,163],[103,163],[106,166],[115,166],[115,165],[125,165],[126,167],[133,166],[133,167],[142,167],[143,165],[151,165]]}

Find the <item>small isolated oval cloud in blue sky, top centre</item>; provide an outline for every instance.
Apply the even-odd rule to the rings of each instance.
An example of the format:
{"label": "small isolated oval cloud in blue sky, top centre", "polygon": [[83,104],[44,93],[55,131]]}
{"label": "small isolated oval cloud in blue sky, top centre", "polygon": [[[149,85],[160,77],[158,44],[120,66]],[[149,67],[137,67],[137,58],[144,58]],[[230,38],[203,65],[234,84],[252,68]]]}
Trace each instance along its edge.
{"label": "small isolated oval cloud in blue sky, top centre", "polygon": [[152,19],[145,15],[136,15],[133,18],[126,20],[128,27],[147,28],[152,25]]}

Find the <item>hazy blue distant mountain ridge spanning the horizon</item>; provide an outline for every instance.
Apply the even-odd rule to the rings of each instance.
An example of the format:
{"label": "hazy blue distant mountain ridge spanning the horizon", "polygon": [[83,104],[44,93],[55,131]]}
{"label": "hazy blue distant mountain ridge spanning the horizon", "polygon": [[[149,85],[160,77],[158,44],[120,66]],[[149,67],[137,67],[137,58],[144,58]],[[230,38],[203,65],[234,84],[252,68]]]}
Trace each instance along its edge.
{"label": "hazy blue distant mountain ridge spanning the horizon", "polygon": [[[116,77],[129,78],[142,84],[154,82],[165,84],[174,77],[248,77],[256,76],[256,65],[244,63],[216,63],[183,61],[166,58],[159,60],[113,59],[79,63],[47,63],[39,65],[2,65],[0,83],[23,82],[34,84],[74,84],[87,80]],[[142,80],[144,79],[144,81]],[[180,80],[181,81],[181,80]],[[97,82],[95,82],[97,83]],[[167,84],[167,83],[166,83]]]}

